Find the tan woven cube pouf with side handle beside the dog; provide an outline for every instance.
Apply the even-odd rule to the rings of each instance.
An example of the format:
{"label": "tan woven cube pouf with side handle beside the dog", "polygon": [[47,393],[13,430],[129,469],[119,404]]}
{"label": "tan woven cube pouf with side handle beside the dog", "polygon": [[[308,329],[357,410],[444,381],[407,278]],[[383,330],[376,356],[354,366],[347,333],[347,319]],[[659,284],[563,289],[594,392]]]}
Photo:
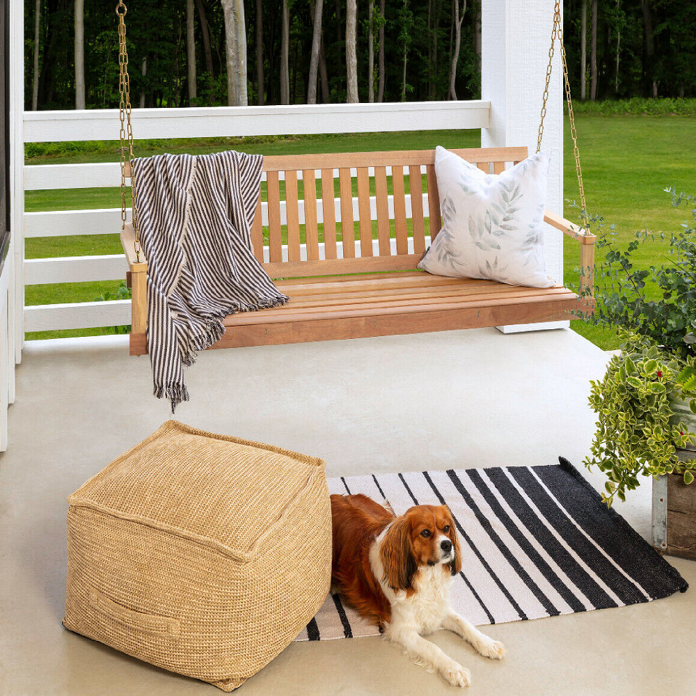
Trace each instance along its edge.
{"label": "tan woven cube pouf with side handle beside the dog", "polygon": [[329,591],[322,459],[170,420],[68,503],[63,624],[223,691]]}

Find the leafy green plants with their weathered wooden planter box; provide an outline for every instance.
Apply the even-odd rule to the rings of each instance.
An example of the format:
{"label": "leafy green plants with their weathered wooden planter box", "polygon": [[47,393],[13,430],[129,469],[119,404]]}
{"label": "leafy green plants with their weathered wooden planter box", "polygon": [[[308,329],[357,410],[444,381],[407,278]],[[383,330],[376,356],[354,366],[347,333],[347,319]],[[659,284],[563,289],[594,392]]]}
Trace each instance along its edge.
{"label": "leafy green plants with their weathered wooden planter box", "polygon": [[674,205],[692,204],[693,219],[663,235],[663,264],[633,264],[640,237],[654,235],[625,249],[599,237],[606,254],[590,321],[618,327],[622,349],[592,382],[598,424],[585,465],[606,473],[607,505],[625,500],[641,475],[654,477],[654,545],[696,557],[696,199],[669,191]]}

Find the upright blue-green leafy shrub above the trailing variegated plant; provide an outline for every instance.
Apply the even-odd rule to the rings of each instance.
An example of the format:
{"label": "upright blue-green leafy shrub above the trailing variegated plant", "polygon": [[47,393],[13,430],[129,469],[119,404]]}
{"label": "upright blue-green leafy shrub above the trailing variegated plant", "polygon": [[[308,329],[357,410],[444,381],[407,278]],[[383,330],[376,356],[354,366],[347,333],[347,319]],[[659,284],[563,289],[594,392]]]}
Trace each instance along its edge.
{"label": "upright blue-green leafy shrub above the trailing variegated plant", "polygon": [[602,230],[603,219],[591,219],[601,230],[596,246],[603,259],[595,269],[596,310],[588,320],[634,331],[675,356],[696,357],[696,199],[674,188],[667,192],[674,206],[690,205],[692,219],[677,232],[658,235],[667,244],[659,265],[646,269],[633,262],[641,244],[655,242],[654,233],[638,232],[626,248],[619,248],[615,229]]}

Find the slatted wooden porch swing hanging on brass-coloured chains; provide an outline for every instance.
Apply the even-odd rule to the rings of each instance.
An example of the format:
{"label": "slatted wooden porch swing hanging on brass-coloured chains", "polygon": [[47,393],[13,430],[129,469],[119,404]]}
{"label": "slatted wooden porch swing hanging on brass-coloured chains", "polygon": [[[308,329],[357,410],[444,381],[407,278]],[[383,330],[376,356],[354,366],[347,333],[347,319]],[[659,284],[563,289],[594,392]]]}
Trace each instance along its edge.
{"label": "slatted wooden porch swing hanging on brass-coloured chains", "polygon": [[[120,152],[121,152],[121,243],[129,265],[132,287],[130,354],[148,352],[146,285],[148,263],[140,244],[137,192],[133,171],[133,134],[129,101],[126,6],[118,3]],[[551,47],[548,52],[546,86],[539,122],[537,152],[544,133],[544,116],[555,41],[560,43],[565,93],[574,143],[580,205],[585,214],[585,192],[580,168],[573,104],[563,45],[560,0],[555,0]],[[521,148],[451,150],[482,171],[499,174],[507,163],[528,157]],[[509,324],[530,324],[568,319],[574,313],[591,312],[594,269],[594,235],[551,211],[544,221],[580,243],[580,292],[566,287],[519,287],[492,280],[433,276],[416,269],[425,253],[425,217],[431,240],[441,229],[440,203],[434,169],[434,150],[404,152],[342,152],[339,154],[283,155],[264,157],[267,181],[267,255],[264,255],[261,200],[259,197],[251,231],[253,251],[280,292],[290,296],[286,306],[258,312],[237,313],[224,320],[225,334],[212,347],[232,348],[276,345],[381,335],[427,333],[452,329],[475,329]],[[356,255],[351,168],[357,171],[359,255]],[[390,235],[387,169],[393,180],[395,246]],[[422,196],[411,196],[411,239],[406,218],[404,176],[408,169],[411,191],[422,190],[422,168],[427,180],[427,215]],[[336,235],[334,169],[340,182],[341,234]],[[374,171],[377,237],[372,239],[370,175]],[[317,216],[315,179],[320,171],[322,209]],[[303,217],[306,251],[300,243],[298,173],[313,185],[303,187]],[[287,247],[284,248],[280,217],[280,180],[285,180]],[[127,223],[126,180],[132,189],[132,223]],[[425,217],[424,217],[425,215]],[[586,218],[585,218],[586,220]],[[324,226],[324,254],[320,255],[319,223]],[[339,241],[340,240],[340,241]],[[340,251],[338,253],[340,244]],[[391,272],[386,272],[391,271]]]}

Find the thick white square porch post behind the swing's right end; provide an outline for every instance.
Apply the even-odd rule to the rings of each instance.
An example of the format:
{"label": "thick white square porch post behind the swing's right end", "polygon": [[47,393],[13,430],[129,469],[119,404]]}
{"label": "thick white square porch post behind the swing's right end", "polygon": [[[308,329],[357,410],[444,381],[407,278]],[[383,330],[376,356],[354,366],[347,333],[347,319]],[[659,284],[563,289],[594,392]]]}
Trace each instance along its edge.
{"label": "thick white square porch post behind the swing's right end", "polygon": [[[562,12],[562,10],[561,10]],[[562,16],[562,15],[561,15]],[[552,0],[483,0],[481,98],[491,102],[491,125],[481,131],[483,148],[527,145],[537,149],[541,99],[553,26]],[[563,212],[563,109],[560,47],[556,42],[542,148],[551,150],[546,207]],[[563,280],[563,235],[546,226],[548,274]],[[569,326],[569,322],[499,326],[503,333]]]}

